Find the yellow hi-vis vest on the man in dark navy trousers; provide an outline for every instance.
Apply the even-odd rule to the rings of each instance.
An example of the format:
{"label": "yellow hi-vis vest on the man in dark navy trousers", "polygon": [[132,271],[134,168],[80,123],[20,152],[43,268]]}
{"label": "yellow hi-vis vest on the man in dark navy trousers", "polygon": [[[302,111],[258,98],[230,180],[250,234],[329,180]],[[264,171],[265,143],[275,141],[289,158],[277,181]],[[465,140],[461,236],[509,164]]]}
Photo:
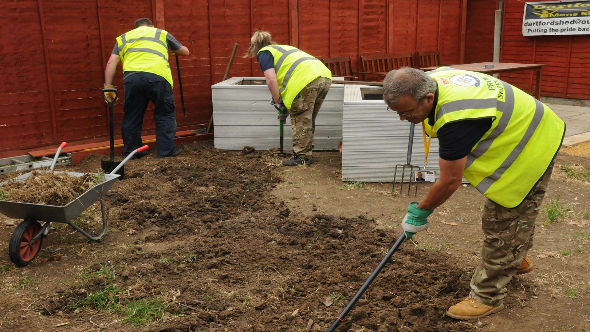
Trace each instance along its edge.
{"label": "yellow hi-vis vest on the man in dark navy trousers", "polygon": [[123,72],[147,71],[164,77],[172,86],[166,35],[168,31],[143,26],[117,37]]}

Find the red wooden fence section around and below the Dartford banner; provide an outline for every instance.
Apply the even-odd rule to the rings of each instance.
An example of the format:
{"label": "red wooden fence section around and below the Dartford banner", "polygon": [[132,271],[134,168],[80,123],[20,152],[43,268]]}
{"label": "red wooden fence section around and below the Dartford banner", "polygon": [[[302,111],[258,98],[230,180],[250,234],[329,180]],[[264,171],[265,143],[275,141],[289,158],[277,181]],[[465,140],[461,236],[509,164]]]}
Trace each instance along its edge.
{"label": "red wooden fence section around and below the Dartford banner", "polygon": [[[545,64],[541,95],[590,99],[590,35],[522,35],[525,4],[504,0],[501,61]],[[522,71],[502,74],[502,79],[532,91],[536,75]]]}

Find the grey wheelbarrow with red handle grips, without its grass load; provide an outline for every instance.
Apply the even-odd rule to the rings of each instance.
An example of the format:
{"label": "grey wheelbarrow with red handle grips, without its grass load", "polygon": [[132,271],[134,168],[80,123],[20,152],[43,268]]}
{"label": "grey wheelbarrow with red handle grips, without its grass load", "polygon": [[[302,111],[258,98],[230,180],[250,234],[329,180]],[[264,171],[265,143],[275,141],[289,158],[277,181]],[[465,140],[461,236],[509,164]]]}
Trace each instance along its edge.
{"label": "grey wheelbarrow with red handle grips, without its grass load", "polygon": [[[50,170],[37,172],[67,173],[68,175],[74,177],[83,177],[84,175],[87,175],[87,173],[58,172],[53,170],[55,167],[55,163],[57,162],[57,157],[60,155],[61,149],[64,148],[66,145],[67,143],[63,142],[57,149]],[[87,233],[86,231],[78,227],[76,224],[71,222],[71,220],[75,219],[77,216],[80,215],[80,213],[88,209],[90,206],[96,203],[96,201],[98,201],[101,197],[106,195],[106,193],[113,186],[117,178],[120,177],[119,174],[116,174],[116,172],[119,171],[119,168],[123,167],[123,165],[128,160],[130,160],[130,158],[132,158],[133,155],[135,155],[137,152],[145,151],[148,148],[148,145],[144,145],[143,147],[131,152],[127,156],[127,158],[125,158],[119,164],[119,167],[115,168],[110,173],[105,173],[101,175],[102,182],[100,184],[97,184],[94,187],[90,188],[85,193],[78,196],[75,200],[70,201],[70,203],[68,204],[65,204],[65,206],[53,206],[45,204],[33,204],[22,203],[18,201],[0,200],[0,213],[5,214],[7,217],[10,218],[22,219],[22,222],[18,224],[14,232],[12,232],[12,236],[10,238],[10,242],[8,245],[8,255],[10,256],[10,260],[17,266],[26,266],[29,263],[31,263],[41,249],[43,238],[49,234],[49,227],[51,223],[67,223],[68,225],[70,225],[71,227],[73,227],[89,239],[94,241],[100,240],[101,237],[103,237],[104,234],[107,232],[107,217],[106,212],[104,210],[103,201],[100,202],[100,210],[103,218],[103,230],[99,236],[91,236],[89,233]],[[24,181],[31,175],[32,172],[22,174],[19,177],[14,178],[10,181]],[[8,181],[0,183],[0,187],[2,185],[5,185],[6,183],[8,183]],[[40,222],[45,223],[41,226]]]}

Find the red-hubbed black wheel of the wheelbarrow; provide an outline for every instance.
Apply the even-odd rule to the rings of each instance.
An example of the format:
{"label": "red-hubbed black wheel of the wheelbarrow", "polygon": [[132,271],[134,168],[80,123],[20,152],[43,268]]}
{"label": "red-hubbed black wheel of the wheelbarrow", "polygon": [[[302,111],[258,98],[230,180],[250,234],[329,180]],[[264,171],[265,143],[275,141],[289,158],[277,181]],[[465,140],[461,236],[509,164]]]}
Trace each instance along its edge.
{"label": "red-hubbed black wheel of the wheelbarrow", "polygon": [[8,256],[17,266],[26,266],[32,262],[41,249],[43,236],[31,245],[31,240],[41,230],[41,224],[35,220],[23,220],[12,232],[8,245]]}

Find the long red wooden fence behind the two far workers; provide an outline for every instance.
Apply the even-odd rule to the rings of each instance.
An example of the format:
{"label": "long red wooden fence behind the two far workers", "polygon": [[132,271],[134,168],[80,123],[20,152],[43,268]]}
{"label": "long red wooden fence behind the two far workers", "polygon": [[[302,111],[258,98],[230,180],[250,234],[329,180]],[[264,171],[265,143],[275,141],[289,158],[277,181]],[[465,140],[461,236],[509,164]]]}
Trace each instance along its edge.
{"label": "long red wooden fence behind the two far workers", "polygon": [[[493,9],[484,14],[493,17]],[[174,87],[183,128],[208,122],[211,84],[221,81],[232,45],[239,43],[243,54],[255,29],[316,57],[351,56],[354,66],[362,54],[437,49],[443,63],[461,63],[471,47],[467,10],[467,0],[3,0],[0,152],[104,139],[104,64],[115,38],[139,17],[152,18],[191,51],[180,60],[186,119]],[[493,38],[493,21],[489,31]],[[171,60],[178,82],[175,67]],[[253,60],[234,61],[231,76],[261,75]],[[119,66],[116,132],[123,115],[121,77]],[[149,113],[146,132],[155,128]]]}

